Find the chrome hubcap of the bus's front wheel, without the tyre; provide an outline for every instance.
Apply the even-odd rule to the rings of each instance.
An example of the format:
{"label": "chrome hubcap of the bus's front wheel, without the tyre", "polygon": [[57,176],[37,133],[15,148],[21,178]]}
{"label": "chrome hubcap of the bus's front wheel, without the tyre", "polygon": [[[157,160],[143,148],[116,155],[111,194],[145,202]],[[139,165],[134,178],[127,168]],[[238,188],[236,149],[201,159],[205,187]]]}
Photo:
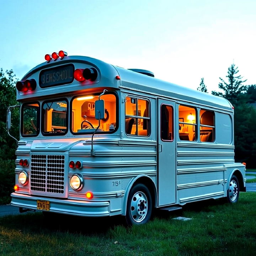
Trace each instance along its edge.
{"label": "chrome hubcap of the bus's front wheel, without the tyre", "polygon": [[137,192],[132,197],[130,213],[135,222],[142,222],[148,212],[148,199],[143,192]]}

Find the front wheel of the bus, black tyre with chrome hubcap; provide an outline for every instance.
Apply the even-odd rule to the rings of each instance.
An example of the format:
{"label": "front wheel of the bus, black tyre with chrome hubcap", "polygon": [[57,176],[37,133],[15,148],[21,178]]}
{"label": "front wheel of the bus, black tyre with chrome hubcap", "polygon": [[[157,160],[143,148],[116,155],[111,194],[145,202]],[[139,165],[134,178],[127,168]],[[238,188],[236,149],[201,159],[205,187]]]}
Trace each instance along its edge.
{"label": "front wheel of the bus, black tyre with chrome hubcap", "polygon": [[135,185],[129,193],[126,209],[128,225],[145,224],[150,220],[152,198],[148,188],[143,184]]}

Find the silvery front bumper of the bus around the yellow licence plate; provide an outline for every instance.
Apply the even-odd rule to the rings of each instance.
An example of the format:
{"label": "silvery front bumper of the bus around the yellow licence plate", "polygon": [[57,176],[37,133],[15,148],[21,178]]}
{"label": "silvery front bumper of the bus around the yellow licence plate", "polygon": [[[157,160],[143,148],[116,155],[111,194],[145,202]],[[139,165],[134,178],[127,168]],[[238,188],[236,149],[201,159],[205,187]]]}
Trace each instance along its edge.
{"label": "silvery front bumper of the bus around the yellow licence plate", "polygon": [[50,202],[50,212],[85,217],[103,217],[110,215],[110,203],[106,201],[92,202],[70,199],[45,198],[38,196],[30,196],[27,194],[21,194],[17,192],[12,193],[11,197],[11,205],[27,209],[36,210],[37,200],[44,200]]}

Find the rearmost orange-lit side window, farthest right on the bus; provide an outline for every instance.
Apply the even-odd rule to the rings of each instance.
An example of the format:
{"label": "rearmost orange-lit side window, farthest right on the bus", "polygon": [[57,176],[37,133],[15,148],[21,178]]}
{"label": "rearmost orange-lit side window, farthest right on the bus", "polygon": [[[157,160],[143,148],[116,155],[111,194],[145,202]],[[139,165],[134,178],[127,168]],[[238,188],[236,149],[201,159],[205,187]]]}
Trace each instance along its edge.
{"label": "rearmost orange-lit side window, farthest right on the bus", "polygon": [[214,142],[215,124],[214,112],[200,110],[200,140],[201,142]]}

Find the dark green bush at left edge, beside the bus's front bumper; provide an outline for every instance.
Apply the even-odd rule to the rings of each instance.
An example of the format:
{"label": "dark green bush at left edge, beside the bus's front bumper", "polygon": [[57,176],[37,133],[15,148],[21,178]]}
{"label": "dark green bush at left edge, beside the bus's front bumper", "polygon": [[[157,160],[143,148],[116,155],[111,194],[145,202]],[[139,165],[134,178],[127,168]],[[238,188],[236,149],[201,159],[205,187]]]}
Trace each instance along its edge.
{"label": "dark green bush at left edge, beside the bus's front bumper", "polygon": [[0,159],[0,204],[11,202],[10,194],[14,192],[15,160]]}

